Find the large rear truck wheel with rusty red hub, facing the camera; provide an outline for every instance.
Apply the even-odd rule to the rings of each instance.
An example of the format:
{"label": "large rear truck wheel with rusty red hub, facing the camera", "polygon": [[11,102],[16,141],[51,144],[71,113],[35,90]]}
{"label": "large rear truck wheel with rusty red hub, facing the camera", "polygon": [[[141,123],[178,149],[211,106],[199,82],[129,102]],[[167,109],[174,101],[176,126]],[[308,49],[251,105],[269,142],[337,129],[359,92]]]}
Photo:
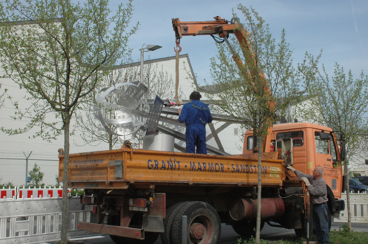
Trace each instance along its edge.
{"label": "large rear truck wheel with rusty red hub, facing the camera", "polygon": [[216,209],[206,202],[186,202],[177,210],[170,230],[170,244],[180,244],[182,217],[188,217],[187,235],[190,244],[217,244],[221,236],[221,221]]}

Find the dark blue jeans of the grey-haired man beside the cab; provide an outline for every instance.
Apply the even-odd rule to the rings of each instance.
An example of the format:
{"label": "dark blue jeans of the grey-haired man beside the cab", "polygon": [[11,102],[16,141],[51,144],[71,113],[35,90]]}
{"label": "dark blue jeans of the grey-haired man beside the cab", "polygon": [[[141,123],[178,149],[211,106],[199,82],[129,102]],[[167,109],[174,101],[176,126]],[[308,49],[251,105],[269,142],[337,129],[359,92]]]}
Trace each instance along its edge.
{"label": "dark blue jeans of the grey-haired man beside the cab", "polygon": [[316,230],[317,240],[319,244],[329,244],[329,228],[328,228],[328,206],[327,202],[321,204],[313,204],[313,226]]}

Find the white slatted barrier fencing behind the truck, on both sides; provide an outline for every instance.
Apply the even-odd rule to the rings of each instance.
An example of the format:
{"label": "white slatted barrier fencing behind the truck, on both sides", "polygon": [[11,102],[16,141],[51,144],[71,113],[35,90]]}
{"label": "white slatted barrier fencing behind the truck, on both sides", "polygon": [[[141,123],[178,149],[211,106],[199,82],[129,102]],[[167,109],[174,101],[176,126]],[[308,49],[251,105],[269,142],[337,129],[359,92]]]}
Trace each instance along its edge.
{"label": "white slatted barrier fencing behind the truck, on both sides", "polygon": [[[61,188],[0,189],[0,243],[41,243],[60,240]],[[54,197],[51,197],[51,192]],[[48,195],[48,196],[46,196]],[[30,198],[27,198],[29,197]],[[56,197],[55,197],[56,196]],[[61,195],[60,195],[61,196]],[[17,199],[18,198],[18,199]],[[346,193],[341,195],[346,200]],[[76,228],[77,221],[89,222],[90,212],[82,211],[79,197],[68,197],[68,238],[99,235]],[[368,194],[350,194],[352,222],[368,221]],[[335,222],[347,222],[347,209]]]}

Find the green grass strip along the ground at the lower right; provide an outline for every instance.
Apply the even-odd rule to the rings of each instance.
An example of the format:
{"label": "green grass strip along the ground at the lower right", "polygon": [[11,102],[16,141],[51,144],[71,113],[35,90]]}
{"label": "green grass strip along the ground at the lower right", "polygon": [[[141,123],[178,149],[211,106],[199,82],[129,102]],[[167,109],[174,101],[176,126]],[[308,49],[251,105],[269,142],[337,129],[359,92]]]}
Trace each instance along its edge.
{"label": "green grass strip along the ground at the lower right", "polygon": [[[299,240],[260,240],[260,244],[303,244],[305,239]],[[238,239],[238,244],[256,244],[254,238],[249,240]],[[330,231],[330,244],[367,244],[368,232],[350,231],[347,224],[338,228],[338,231]]]}

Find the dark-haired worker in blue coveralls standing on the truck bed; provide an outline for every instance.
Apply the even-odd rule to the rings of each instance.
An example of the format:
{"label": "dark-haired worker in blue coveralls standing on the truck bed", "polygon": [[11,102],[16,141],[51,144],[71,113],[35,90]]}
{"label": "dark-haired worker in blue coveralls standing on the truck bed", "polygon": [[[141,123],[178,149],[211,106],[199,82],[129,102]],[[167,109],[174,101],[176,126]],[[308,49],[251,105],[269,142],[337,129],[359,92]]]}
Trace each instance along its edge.
{"label": "dark-haired worker in blue coveralls standing on the truck bed", "polygon": [[182,108],[179,108],[179,122],[186,123],[186,149],[187,153],[207,154],[206,146],[206,124],[212,122],[212,115],[209,108],[200,102],[201,95],[193,92]]}

